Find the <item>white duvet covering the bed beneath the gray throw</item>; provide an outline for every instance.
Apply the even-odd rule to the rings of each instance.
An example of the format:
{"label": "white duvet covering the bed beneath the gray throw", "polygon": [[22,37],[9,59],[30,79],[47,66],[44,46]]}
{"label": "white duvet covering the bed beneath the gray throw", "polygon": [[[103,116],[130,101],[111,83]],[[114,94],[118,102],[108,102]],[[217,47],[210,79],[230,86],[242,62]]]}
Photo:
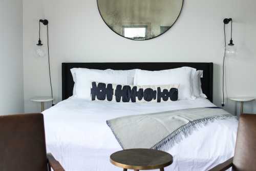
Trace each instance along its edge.
{"label": "white duvet covering the bed beneath the gray throw", "polygon": [[[67,171],[122,170],[109,161],[121,150],[106,120],[143,113],[196,107],[212,107],[203,98],[170,103],[91,102],[70,98],[44,111],[46,143]],[[167,152],[174,162],[165,170],[208,170],[233,156],[236,119],[209,123]]]}

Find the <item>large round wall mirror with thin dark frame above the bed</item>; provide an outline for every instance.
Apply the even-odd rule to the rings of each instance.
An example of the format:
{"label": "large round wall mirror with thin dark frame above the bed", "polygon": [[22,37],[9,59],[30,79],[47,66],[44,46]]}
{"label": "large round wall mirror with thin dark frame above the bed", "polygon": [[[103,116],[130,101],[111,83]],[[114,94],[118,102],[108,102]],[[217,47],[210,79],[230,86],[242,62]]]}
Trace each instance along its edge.
{"label": "large round wall mirror with thin dark frame above the bed", "polygon": [[97,0],[106,25],[131,40],[153,39],[177,21],[183,0]]}

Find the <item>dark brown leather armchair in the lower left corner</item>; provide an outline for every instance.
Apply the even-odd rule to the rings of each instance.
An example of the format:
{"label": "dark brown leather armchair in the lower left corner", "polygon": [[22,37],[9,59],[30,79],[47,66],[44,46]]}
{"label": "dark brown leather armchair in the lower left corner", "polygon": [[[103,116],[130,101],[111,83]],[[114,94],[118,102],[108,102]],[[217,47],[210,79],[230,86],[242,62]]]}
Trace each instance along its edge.
{"label": "dark brown leather armchair in the lower left corner", "polygon": [[46,154],[44,116],[41,113],[0,116],[1,171],[65,171]]}

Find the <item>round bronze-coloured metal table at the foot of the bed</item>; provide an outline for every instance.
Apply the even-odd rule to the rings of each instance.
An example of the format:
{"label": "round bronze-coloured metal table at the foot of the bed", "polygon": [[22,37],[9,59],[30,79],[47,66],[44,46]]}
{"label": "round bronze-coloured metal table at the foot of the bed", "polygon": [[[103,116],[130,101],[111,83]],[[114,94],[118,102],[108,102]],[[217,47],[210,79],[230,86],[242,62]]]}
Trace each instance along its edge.
{"label": "round bronze-coloured metal table at the foot of the bed", "polygon": [[164,167],[173,163],[173,156],[154,149],[125,149],[112,154],[110,162],[123,168],[123,171],[127,171],[127,169],[135,171],[160,169],[160,171],[164,171]]}

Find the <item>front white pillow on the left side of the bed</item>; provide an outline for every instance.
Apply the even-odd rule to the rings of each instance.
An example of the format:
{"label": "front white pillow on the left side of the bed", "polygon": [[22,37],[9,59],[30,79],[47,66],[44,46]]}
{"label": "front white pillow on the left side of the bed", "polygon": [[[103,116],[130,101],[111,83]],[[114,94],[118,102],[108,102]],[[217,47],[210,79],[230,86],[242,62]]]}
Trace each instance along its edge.
{"label": "front white pillow on the left side of the bed", "polygon": [[[78,98],[88,99],[91,97],[91,82],[107,82],[114,84],[127,84],[127,71],[116,71],[111,69],[97,70],[87,68],[71,69],[75,82],[73,95]],[[129,83],[131,80],[129,81]]]}

